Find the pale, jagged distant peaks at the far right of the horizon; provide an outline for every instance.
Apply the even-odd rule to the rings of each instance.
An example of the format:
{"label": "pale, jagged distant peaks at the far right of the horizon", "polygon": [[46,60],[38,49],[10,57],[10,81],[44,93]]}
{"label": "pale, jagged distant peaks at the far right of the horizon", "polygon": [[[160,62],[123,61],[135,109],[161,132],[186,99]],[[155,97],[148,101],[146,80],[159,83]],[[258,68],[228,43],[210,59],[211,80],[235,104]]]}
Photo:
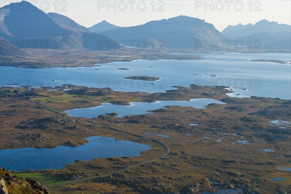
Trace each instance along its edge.
{"label": "pale, jagged distant peaks at the far right of the horizon", "polygon": [[230,38],[238,38],[238,37],[244,37],[255,33],[260,32],[291,32],[291,26],[287,24],[278,24],[274,21],[268,21],[268,20],[260,20],[255,25],[247,24],[242,25],[238,24],[236,26],[227,26],[226,29],[222,31],[224,35]]}

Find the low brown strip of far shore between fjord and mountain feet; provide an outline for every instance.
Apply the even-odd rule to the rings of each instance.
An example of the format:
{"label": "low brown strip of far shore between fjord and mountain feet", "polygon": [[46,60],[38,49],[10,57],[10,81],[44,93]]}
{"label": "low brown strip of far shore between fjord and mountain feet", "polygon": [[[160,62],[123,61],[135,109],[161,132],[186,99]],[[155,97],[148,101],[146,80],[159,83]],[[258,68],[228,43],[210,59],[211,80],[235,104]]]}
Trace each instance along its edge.
{"label": "low brown strip of far shore between fjord and mountain feet", "polygon": [[[11,66],[16,68],[53,68],[53,67],[93,67],[97,64],[109,64],[113,62],[132,62],[134,60],[202,60],[201,55],[205,53],[240,53],[240,54],[290,54],[285,52],[270,52],[263,50],[262,52],[248,52],[238,50],[193,50],[193,49],[164,49],[164,50],[41,50],[27,49],[26,56],[6,56],[0,55],[0,66]],[[117,52],[117,53],[115,53]],[[77,55],[77,53],[79,53]],[[175,54],[172,54],[175,53]],[[186,54],[183,54],[186,53]],[[192,55],[191,55],[192,54]],[[124,57],[127,56],[127,57]],[[129,57],[128,57],[129,56]],[[39,58],[43,58],[39,62]],[[275,62],[284,60],[264,60],[261,62]],[[253,60],[250,60],[253,61]],[[276,63],[276,62],[275,62]],[[19,65],[20,64],[20,65]]]}

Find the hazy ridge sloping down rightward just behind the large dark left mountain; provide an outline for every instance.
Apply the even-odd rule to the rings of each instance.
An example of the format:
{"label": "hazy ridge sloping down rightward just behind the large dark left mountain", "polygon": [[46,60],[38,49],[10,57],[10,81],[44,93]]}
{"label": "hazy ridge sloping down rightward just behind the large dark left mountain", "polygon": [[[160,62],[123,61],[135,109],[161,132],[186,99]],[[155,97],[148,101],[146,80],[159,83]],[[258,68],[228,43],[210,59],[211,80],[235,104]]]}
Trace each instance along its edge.
{"label": "hazy ridge sloping down rightward just behind the large dark left mountain", "polygon": [[63,16],[61,14],[52,13],[52,12],[48,13],[48,15],[52,17],[53,19],[55,19],[55,22],[59,24],[60,26],[62,26],[63,28],[76,30],[76,31],[89,32],[89,30],[86,27],[81,26],[80,24],[76,23],[74,20],[72,20],[71,18],[67,16]]}

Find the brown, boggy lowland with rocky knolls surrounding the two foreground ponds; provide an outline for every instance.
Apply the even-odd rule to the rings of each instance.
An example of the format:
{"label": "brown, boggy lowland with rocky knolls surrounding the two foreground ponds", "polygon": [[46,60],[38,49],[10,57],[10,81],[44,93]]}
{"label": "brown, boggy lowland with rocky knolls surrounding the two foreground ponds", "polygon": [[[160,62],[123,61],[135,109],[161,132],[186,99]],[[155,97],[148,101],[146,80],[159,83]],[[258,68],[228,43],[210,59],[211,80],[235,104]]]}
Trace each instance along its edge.
{"label": "brown, boggy lowland with rocky knolls surrounding the two foreground ponds", "polygon": [[[245,193],[290,193],[290,100],[232,98],[226,96],[229,91],[224,87],[197,85],[154,94],[74,85],[58,87],[55,91],[49,89],[1,88],[0,149],[78,146],[86,143],[85,137],[99,135],[152,147],[141,157],[76,161],[61,170],[15,173],[37,179],[49,186],[52,194],[194,193],[236,188]],[[207,109],[169,106],[149,114],[122,118],[108,114],[84,119],[63,113],[98,106],[102,102],[127,105],[129,102],[192,98],[212,98],[227,104],[210,104]],[[168,146],[169,153],[157,159],[165,148],[140,136],[161,141]],[[274,151],[266,152],[265,149]],[[154,161],[102,177],[151,160]],[[96,178],[83,178],[85,183],[82,178],[70,182],[68,176],[77,174]],[[270,179],[277,177],[283,179]]]}

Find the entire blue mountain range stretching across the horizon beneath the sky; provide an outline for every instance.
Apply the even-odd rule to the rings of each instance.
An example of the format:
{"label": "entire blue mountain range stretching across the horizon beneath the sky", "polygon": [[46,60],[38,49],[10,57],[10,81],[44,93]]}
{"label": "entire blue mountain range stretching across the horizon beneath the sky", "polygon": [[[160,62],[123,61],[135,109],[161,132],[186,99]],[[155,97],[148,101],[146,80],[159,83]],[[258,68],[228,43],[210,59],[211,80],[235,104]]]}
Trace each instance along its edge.
{"label": "entire blue mountain range stretching across the horizon beneath the sky", "polygon": [[[48,13],[34,7],[31,3],[29,10],[12,9],[23,7],[21,1],[0,8],[0,37],[1,43],[10,45],[12,50],[1,48],[1,55],[25,54],[19,48],[47,49],[89,49],[106,50],[116,47],[100,46],[99,41],[117,44],[119,41],[133,40],[133,47],[142,41],[147,48],[179,48],[195,49],[197,41],[202,45],[216,40],[242,40],[247,45],[249,40],[261,41],[262,49],[290,49],[291,26],[277,22],[261,20],[255,25],[238,24],[228,26],[219,32],[212,24],[203,19],[190,16],[176,16],[169,19],[149,21],[132,27],[119,27],[103,20],[96,25],[86,28],[67,16]],[[11,44],[12,43],[12,44]],[[49,46],[48,46],[49,45]],[[129,46],[128,45],[128,46]],[[16,46],[16,47],[15,47]],[[18,47],[18,49],[16,49]],[[201,47],[203,49],[203,46]]]}

